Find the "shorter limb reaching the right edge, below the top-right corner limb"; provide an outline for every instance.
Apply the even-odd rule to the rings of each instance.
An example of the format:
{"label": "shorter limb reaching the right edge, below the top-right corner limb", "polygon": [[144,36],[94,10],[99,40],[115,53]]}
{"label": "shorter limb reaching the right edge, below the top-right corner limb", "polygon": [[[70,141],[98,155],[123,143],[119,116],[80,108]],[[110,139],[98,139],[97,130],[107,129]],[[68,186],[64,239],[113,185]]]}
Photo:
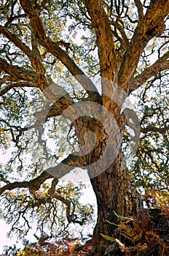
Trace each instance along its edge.
{"label": "shorter limb reaching the right edge, below the top-right corner limb", "polygon": [[160,59],[158,59],[151,67],[144,69],[140,75],[137,75],[130,83],[130,91],[138,89],[142,86],[149,78],[157,76],[159,72],[165,69],[169,69],[169,51],[165,53]]}

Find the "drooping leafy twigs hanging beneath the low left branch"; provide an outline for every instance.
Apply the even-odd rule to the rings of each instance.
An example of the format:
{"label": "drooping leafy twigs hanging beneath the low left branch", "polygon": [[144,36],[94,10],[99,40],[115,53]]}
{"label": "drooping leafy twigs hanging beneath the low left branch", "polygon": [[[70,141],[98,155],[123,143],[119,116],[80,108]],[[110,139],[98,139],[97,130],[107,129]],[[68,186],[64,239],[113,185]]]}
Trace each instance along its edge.
{"label": "drooping leafy twigs hanging beneath the low left branch", "polygon": [[42,189],[36,192],[34,197],[27,195],[25,190],[22,193],[18,189],[6,192],[4,199],[1,200],[1,209],[6,222],[10,224],[12,221],[10,232],[24,238],[36,223],[36,232],[40,230],[44,233],[50,230],[49,235],[52,237],[57,233],[58,238],[74,236],[76,231],[72,227],[69,228],[71,222],[79,225],[93,222],[93,207],[90,204],[79,203],[82,188],[82,184],[60,185],[55,192],[56,196],[52,198],[49,194],[50,184],[43,184]]}

